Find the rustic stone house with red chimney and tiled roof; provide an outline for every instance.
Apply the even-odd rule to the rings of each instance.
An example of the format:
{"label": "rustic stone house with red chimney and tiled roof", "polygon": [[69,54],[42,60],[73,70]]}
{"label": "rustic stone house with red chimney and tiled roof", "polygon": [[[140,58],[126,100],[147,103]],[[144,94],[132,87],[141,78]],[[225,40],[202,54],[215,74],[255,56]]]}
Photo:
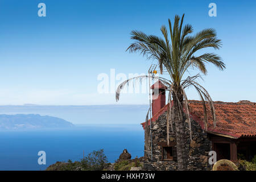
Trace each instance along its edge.
{"label": "rustic stone house with red chimney and tiled roof", "polygon": [[[151,132],[152,143],[148,140],[150,133],[146,122],[142,123],[145,135],[144,168],[149,170],[175,170],[177,169],[177,151],[175,133],[170,126],[167,146],[166,127],[166,93],[165,86],[158,81],[151,86],[152,118]],[[156,92],[157,91],[157,92]],[[158,97],[155,96],[157,94]],[[186,129],[189,170],[209,170],[209,151],[216,151],[217,160],[237,160],[243,156],[251,160],[256,155],[256,103],[250,101],[239,102],[214,102],[217,126],[213,126],[212,115],[208,111],[208,128],[204,127],[204,109],[201,101],[189,101],[192,129],[192,140],[189,130]],[[150,125],[150,119],[147,121]],[[173,123],[175,125],[175,123]],[[186,122],[187,128],[188,123]],[[175,127],[173,126],[173,129]],[[152,145],[152,159],[151,159]]]}

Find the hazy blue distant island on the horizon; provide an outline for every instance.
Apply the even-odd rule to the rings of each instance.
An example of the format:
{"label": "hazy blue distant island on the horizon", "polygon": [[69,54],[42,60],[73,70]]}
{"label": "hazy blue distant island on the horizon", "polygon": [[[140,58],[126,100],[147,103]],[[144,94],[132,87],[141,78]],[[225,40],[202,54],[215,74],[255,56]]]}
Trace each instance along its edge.
{"label": "hazy blue distant island on the horizon", "polygon": [[0,114],[0,130],[46,129],[73,127],[64,119],[39,114]]}

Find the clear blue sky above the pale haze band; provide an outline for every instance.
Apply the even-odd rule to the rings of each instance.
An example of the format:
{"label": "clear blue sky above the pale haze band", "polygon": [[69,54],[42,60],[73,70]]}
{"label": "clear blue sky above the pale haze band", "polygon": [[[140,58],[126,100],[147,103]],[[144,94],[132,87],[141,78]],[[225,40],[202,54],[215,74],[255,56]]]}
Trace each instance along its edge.
{"label": "clear blue sky above the pale haze band", "polygon": [[[46,17],[38,4],[46,3]],[[216,3],[217,17],[208,15]],[[215,28],[224,72],[208,65],[201,84],[213,100],[256,102],[255,1],[12,1],[0,2],[0,105],[116,104],[100,94],[100,73],[146,73],[152,60],[126,52],[131,30],[160,36],[168,18],[185,13],[195,32]],[[191,74],[196,74],[192,71]],[[118,81],[117,81],[118,82]],[[199,99],[188,90],[190,99]],[[147,94],[122,94],[118,104],[147,104]]]}

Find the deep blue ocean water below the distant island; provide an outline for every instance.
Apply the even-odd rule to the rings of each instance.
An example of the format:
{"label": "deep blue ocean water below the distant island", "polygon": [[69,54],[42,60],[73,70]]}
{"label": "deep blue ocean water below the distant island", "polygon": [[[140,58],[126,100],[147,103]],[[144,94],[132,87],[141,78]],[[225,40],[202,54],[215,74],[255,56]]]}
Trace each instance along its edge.
{"label": "deep blue ocean water below the distant island", "polygon": [[[123,149],[131,158],[143,156],[144,133],[138,124],[76,125],[68,129],[0,132],[0,170],[44,170],[49,165],[80,160],[93,150],[104,149],[108,161],[118,159]],[[46,165],[38,164],[38,152],[46,152]]]}

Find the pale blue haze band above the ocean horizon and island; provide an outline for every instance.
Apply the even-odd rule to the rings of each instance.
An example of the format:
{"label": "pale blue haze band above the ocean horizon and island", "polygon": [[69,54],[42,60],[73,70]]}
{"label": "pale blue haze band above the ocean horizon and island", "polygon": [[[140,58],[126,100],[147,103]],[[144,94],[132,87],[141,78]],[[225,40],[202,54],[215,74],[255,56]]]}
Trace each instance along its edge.
{"label": "pale blue haze band above the ocean horizon and island", "polygon": [[148,105],[0,106],[0,114],[40,114],[73,124],[138,124],[145,121]]}

